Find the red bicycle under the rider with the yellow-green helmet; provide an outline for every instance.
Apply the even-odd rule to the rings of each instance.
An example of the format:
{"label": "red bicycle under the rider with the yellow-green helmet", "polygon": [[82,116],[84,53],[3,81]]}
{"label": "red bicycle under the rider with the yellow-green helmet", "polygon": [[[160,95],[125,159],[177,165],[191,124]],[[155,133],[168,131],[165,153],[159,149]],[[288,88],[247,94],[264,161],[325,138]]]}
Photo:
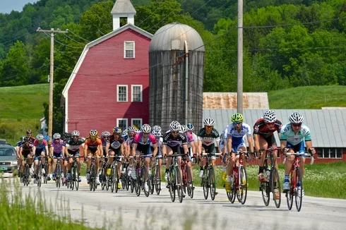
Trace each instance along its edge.
{"label": "red bicycle under the rider with the yellow-green helmet", "polygon": [[233,204],[235,197],[241,203],[245,204],[247,196],[247,175],[246,169],[243,164],[243,155],[246,155],[246,158],[249,158],[249,152],[237,151],[234,152],[236,155],[236,161],[233,164],[233,183],[231,191],[227,193],[228,200]]}

